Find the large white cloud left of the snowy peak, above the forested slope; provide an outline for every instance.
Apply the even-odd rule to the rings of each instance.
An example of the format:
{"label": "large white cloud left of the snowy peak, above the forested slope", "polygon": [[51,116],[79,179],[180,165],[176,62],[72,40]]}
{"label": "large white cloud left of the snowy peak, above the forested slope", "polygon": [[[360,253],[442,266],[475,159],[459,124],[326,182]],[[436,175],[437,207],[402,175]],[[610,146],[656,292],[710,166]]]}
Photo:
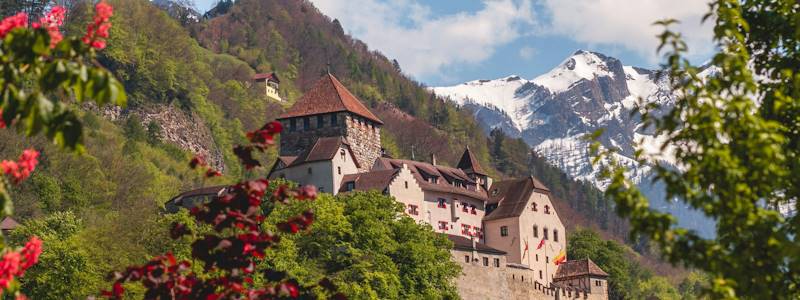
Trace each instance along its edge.
{"label": "large white cloud left of the snowy peak, above the forested slope", "polygon": [[416,0],[312,2],[415,77],[441,77],[444,67],[484,62],[534,25],[530,0],[483,0],[481,10],[450,15],[433,15]]}

